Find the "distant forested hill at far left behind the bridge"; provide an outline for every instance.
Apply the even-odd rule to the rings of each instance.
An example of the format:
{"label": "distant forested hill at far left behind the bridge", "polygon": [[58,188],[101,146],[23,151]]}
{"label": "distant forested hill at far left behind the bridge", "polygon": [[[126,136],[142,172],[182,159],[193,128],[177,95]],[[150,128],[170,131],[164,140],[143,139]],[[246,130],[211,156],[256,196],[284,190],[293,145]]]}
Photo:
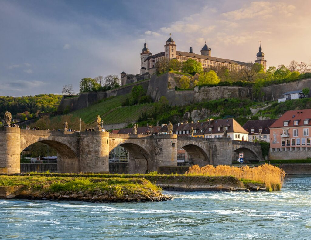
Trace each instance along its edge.
{"label": "distant forested hill at far left behind the bridge", "polygon": [[37,112],[53,112],[62,99],[62,95],[39,94],[35,96],[6,97],[0,96],[0,117],[5,111],[12,113],[14,118],[25,120],[32,118]]}

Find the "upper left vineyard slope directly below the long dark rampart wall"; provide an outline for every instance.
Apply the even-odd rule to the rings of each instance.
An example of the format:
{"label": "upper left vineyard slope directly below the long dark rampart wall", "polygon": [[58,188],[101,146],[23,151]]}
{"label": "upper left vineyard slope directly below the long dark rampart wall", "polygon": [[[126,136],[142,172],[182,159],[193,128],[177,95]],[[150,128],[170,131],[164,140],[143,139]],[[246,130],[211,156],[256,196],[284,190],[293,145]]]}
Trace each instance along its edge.
{"label": "upper left vineyard slope directly below the long dark rampart wall", "polygon": [[78,117],[83,120],[86,124],[95,121],[96,115],[103,116],[105,113],[109,112],[113,108],[120,107],[122,102],[129,96],[121,95],[114,97],[112,99],[103,100],[99,103],[93,104],[87,108],[82,108],[76,111],[73,111],[71,114],[73,117]]}

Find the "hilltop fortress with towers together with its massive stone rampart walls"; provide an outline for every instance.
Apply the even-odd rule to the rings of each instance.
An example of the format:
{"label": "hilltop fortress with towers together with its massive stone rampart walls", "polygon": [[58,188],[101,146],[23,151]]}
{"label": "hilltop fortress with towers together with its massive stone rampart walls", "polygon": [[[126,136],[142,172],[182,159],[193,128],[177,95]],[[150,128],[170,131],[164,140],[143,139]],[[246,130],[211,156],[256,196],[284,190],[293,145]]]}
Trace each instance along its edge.
{"label": "hilltop fortress with towers together with its massive stone rampart walls", "polygon": [[[85,92],[77,97],[63,96],[61,103],[58,107],[59,112],[74,111],[77,109],[85,108],[94,104],[101,99],[109,98],[112,96],[126,95],[131,93],[133,86],[141,85],[146,94],[157,102],[161,96],[165,96],[171,105],[186,105],[194,102],[209,101],[220,98],[240,98],[252,99],[252,87],[250,86],[215,86],[215,87],[195,87],[193,90],[178,90],[179,80],[183,73],[179,72],[166,72],[157,76],[156,62],[161,59],[175,58],[180,62],[186,61],[191,58],[195,61],[201,62],[203,68],[211,66],[225,66],[242,70],[245,67],[252,66],[253,63],[235,61],[225,58],[217,58],[211,56],[211,48],[205,44],[201,49],[201,54],[193,53],[193,48],[189,48],[189,53],[177,51],[177,44],[169,37],[165,42],[164,52],[152,54],[144,44],[144,48],[140,53],[140,73],[127,74],[121,73],[121,86],[105,92]],[[267,62],[264,59],[261,44],[259,44],[259,52],[256,55],[255,63],[262,64],[264,70],[267,69]],[[291,90],[303,89],[310,86],[311,79],[300,80],[296,82],[282,83],[278,85],[271,85],[263,87],[262,91],[268,99],[278,99],[283,93]]]}

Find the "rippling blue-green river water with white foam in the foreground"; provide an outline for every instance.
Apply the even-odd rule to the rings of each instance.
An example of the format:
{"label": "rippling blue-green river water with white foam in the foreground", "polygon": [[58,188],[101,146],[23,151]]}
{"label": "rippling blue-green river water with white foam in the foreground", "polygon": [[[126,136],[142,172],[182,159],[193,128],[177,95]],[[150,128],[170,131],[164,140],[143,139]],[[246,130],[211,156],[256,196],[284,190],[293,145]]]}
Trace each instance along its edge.
{"label": "rippling blue-green river water with white foam in the foreground", "polygon": [[0,200],[0,239],[311,239],[311,176],[281,192],[165,192],[173,201]]}

